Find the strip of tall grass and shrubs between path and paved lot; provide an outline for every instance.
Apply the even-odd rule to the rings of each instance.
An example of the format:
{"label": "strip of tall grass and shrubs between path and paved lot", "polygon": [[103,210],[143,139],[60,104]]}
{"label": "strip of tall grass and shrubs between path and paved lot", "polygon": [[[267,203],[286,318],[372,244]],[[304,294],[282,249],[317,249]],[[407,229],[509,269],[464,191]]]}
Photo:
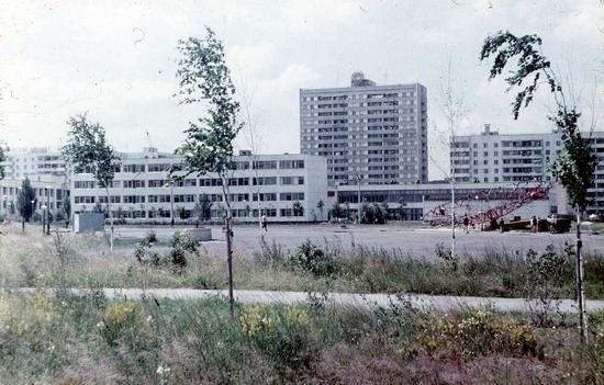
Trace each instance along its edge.
{"label": "strip of tall grass and shrubs between path and paved lot", "polygon": [[[222,253],[199,247],[183,250],[184,268],[166,261],[172,248],[167,241],[153,244],[150,254],[161,263],[141,263],[137,244],[116,241],[113,253],[104,238],[66,234],[63,257],[56,237],[43,237],[34,229],[22,234],[10,228],[1,238],[0,285],[47,287],[63,282],[70,287],[194,287],[225,288],[226,267]],[[301,256],[300,246],[286,249],[276,241],[264,244],[254,258],[235,259],[235,287],[281,291],[334,291],[354,293],[422,293],[470,296],[524,297],[529,265],[525,253],[485,246],[482,253],[447,260],[447,250],[434,256],[414,256],[400,249],[338,244],[312,245],[323,254],[317,261]],[[314,250],[314,251],[313,251]],[[546,250],[536,250],[538,254]],[[572,256],[556,249],[559,297],[574,295]],[[429,258],[428,258],[429,257]],[[604,298],[604,254],[586,257],[586,290],[591,299]]]}

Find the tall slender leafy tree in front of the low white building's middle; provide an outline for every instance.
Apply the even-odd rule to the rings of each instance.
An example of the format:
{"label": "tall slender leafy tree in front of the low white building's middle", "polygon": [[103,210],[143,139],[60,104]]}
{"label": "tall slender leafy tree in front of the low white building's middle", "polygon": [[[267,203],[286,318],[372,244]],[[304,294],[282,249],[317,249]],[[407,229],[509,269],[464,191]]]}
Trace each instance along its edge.
{"label": "tall slender leafy tree in front of the low white building's middle", "polygon": [[[178,42],[181,58],[177,78],[182,97],[180,103],[208,105],[208,115],[189,122],[184,141],[176,150],[182,163],[170,170],[170,175],[216,173],[222,179],[223,201],[226,205],[224,229],[228,264],[228,302],[233,316],[233,230],[228,201],[228,165],[233,157],[233,140],[243,127],[237,121],[239,103],[234,99],[235,87],[224,59],[224,46],[214,32],[206,29],[204,38],[189,37]],[[182,178],[182,173],[178,177]]]}

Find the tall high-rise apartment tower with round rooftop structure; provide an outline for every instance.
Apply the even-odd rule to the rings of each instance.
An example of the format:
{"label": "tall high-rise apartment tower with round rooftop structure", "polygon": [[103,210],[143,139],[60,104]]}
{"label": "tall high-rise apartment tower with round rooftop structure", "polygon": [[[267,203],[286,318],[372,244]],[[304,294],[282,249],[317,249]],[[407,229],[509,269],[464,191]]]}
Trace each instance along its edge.
{"label": "tall high-rise apartment tower with round rooftop structure", "polygon": [[428,179],[426,88],[377,86],[300,90],[300,151],[327,159],[327,182],[423,183]]}

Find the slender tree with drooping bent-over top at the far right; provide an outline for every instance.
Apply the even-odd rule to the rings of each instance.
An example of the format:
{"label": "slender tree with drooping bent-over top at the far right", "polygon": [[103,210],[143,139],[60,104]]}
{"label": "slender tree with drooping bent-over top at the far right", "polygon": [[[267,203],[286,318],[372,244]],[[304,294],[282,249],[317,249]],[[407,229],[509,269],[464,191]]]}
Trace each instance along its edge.
{"label": "slender tree with drooping bent-over top at the far right", "polygon": [[[581,217],[590,202],[588,189],[593,184],[596,157],[589,143],[582,137],[579,129],[581,113],[569,101],[559,77],[551,69],[550,61],[538,49],[543,44],[537,35],[517,37],[510,32],[497,32],[488,36],[480,53],[480,59],[485,60],[495,56],[491,67],[490,79],[500,76],[508,67],[513,58],[517,58],[515,70],[505,78],[510,84],[521,88],[512,103],[514,118],[518,117],[521,109],[527,107],[533,101],[535,92],[543,83],[547,84],[556,103],[556,112],[548,116],[562,133],[563,151],[550,166],[552,175],[566,188],[569,203],[577,213],[577,297],[580,309],[581,337],[586,342],[585,319],[585,287],[583,282],[583,258],[581,254]],[[528,83],[525,80],[528,79]]]}

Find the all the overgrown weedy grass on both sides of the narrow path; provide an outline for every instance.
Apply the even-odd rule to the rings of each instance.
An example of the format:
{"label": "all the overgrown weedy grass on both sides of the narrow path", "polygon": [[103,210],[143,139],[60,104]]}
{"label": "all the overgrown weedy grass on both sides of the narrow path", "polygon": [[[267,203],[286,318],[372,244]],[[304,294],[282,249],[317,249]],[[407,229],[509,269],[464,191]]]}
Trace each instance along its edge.
{"label": "all the overgrown weedy grass on both sides of the narrow path", "polygon": [[[144,242],[8,228],[0,284],[57,287],[0,294],[0,383],[10,384],[601,384],[604,313],[590,314],[590,346],[573,315],[448,314],[401,303],[336,306],[322,293],[573,295],[571,249],[485,248],[452,258],[400,249],[264,242],[236,258],[235,287],[305,291],[297,306],[221,298],[109,299],[99,287],[224,288],[224,258],[187,238]],[[427,258],[429,257],[429,258]],[[604,297],[604,257],[586,259],[588,297]],[[92,288],[67,294],[65,287]]]}

